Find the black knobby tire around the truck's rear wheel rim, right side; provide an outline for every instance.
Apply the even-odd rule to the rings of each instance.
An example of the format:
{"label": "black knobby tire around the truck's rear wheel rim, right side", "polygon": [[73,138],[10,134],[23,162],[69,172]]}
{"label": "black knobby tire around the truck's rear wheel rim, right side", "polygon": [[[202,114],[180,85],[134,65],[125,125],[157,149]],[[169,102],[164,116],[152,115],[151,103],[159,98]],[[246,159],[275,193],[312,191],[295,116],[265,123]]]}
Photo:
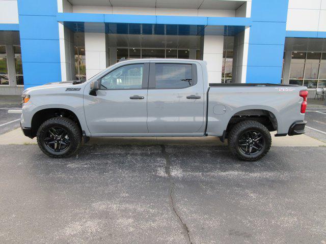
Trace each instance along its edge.
{"label": "black knobby tire around the truck's rear wheel rim, right side", "polygon": [[[246,131],[258,131],[264,139],[263,148],[255,155],[247,155],[243,153],[239,146],[239,137]],[[237,123],[228,135],[228,147],[231,153],[242,161],[257,161],[263,158],[269,151],[271,145],[271,136],[268,129],[254,120],[244,120]]]}

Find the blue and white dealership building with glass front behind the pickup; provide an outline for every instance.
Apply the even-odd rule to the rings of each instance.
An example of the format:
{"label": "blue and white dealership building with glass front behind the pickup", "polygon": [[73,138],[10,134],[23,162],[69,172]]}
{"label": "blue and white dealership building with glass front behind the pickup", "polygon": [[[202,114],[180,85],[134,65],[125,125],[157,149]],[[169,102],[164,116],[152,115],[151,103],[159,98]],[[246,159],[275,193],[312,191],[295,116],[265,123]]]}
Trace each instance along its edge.
{"label": "blue and white dealership building with glass front behind the pickup", "polygon": [[0,95],[121,58],[207,62],[212,83],[326,86],[326,0],[0,0]]}

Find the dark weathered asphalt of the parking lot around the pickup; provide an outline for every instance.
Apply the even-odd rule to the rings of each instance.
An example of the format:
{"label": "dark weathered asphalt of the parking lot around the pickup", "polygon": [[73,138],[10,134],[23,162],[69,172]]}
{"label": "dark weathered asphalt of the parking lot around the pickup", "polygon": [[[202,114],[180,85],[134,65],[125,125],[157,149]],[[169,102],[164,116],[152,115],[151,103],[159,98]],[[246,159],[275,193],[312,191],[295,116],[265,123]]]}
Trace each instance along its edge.
{"label": "dark weathered asphalt of the parking lot around the pickup", "polygon": [[[1,125],[19,118],[2,110]],[[306,119],[326,141],[325,111]],[[0,242],[325,244],[325,157],[324,146],[244,163],[225,146],[86,145],[51,159],[0,145]]]}

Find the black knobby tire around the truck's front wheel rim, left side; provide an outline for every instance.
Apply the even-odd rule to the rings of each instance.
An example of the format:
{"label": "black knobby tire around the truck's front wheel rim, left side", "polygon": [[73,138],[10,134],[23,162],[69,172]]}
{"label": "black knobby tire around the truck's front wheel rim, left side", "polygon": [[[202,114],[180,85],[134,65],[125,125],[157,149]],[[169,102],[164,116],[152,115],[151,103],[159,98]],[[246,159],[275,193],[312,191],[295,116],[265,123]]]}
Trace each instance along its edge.
{"label": "black knobby tire around the truck's front wheel rim, left side", "polygon": [[[58,126],[64,128],[68,132],[70,144],[63,152],[54,152],[45,145],[45,136],[49,128]],[[46,120],[37,131],[37,144],[44,154],[51,158],[67,158],[72,156],[78,150],[79,144],[82,141],[82,132],[79,126],[71,119],[65,117],[53,117]]]}

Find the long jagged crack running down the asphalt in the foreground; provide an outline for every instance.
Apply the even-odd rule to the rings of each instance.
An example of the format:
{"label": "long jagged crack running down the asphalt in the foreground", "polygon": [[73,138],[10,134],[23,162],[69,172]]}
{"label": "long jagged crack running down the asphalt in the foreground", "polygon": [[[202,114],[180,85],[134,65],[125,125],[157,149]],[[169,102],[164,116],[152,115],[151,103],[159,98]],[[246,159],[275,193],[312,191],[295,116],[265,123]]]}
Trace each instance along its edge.
{"label": "long jagged crack running down the asphalt in the foreground", "polygon": [[162,155],[164,156],[164,159],[166,161],[165,173],[169,179],[169,200],[171,203],[171,207],[172,207],[174,215],[178,218],[178,221],[180,222],[180,224],[182,226],[182,230],[183,230],[183,233],[185,234],[185,238],[186,238],[187,242],[192,244],[193,242],[191,241],[191,238],[190,238],[189,229],[188,229],[186,223],[184,223],[182,221],[180,215],[178,214],[178,211],[175,208],[175,202],[173,199],[174,182],[172,181],[172,178],[171,178],[171,160],[170,160],[168,153],[166,152],[164,145],[161,145],[161,151],[162,151]]}

